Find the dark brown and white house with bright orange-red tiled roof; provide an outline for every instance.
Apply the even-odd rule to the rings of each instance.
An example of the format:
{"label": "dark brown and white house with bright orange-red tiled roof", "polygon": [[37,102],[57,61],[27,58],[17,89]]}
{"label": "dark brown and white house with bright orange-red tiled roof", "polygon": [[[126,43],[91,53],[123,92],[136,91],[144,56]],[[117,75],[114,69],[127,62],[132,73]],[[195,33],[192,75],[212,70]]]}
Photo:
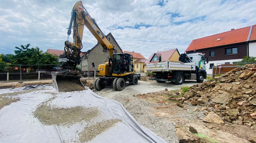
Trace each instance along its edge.
{"label": "dark brown and white house with bright orange-red tiled roof", "polygon": [[256,25],[193,40],[186,53],[203,53],[209,57],[206,72],[212,74],[217,63],[232,64],[245,56],[256,56]]}

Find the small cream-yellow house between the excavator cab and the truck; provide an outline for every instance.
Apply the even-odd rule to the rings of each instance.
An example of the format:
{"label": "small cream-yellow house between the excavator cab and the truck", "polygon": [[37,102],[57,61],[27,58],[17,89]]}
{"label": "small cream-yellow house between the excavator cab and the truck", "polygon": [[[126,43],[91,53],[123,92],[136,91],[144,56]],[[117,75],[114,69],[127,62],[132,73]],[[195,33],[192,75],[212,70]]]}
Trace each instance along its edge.
{"label": "small cream-yellow house between the excavator cab and the truck", "polygon": [[129,53],[133,56],[134,62],[134,70],[135,72],[144,72],[144,63],[146,62],[146,58],[143,57],[141,53],[136,53],[134,51],[124,51],[125,53]]}

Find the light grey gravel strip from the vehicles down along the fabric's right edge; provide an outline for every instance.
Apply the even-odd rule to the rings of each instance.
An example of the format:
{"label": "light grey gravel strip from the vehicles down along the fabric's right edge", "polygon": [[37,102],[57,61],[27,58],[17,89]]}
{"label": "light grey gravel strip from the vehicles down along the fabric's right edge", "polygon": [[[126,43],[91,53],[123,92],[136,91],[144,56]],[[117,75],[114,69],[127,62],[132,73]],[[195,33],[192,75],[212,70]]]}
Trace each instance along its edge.
{"label": "light grey gravel strip from the vehicles down along the fabric's right edge", "polygon": [[192,86],[194,84],[197,84],[196,81],[185,81],[182,85],[174,85],[170,82],[157,83],[156,81],[147,82],[139,80],[138,85],[127,85],[122,91],[114,91],[112,87],[106,87],[101,91],[94,92],[100,96],[122,103],[138,123],[149,128],[166,141],[178,142],[175,132],[176,123],[151,114],[150,111],[154,111],[154,107],[158,107],[159,105],[141,100],[135,96],[137,94],[165,90],[166,88],[168,90],[180,89],[182,86]]}

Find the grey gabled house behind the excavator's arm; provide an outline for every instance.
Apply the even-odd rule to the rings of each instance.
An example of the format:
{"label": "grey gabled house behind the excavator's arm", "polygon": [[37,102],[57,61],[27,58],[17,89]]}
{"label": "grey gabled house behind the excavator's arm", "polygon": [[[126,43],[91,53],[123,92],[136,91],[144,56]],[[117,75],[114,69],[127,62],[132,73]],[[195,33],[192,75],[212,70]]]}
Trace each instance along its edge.
{"label": "grey gabled house behind the excavator's arm", "polygon": [[[106,35],[107,39],[110,43],[114,46],[117,50],[117,53],[121,53],[122,49],[118,45],[117,41],[111,33]],[[98,69],[99,64],[104,64],[105,61],[108,59],[109,53],[107,50],[103,49],[101,44],[98,42],[92,49],[86,52],[86,59],[82,59],[82,71],[87,71],[92,68],[92,62],[94,62],[95,68]],[[93,69],[93,68],[92,68]]]}

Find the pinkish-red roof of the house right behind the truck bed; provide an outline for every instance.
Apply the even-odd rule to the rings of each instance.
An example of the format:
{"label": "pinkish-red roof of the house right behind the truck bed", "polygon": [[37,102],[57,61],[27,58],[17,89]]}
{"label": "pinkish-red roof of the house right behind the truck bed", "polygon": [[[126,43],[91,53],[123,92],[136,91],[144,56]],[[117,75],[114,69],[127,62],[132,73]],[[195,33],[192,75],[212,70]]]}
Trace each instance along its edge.
{"label": "pinkish-red roof of the house right behind the truck bed", "polygon": [[[174,53],[176,50],[178,51],[178,49],[175,48],[175,49],[171,49],[171,50],[167,50],[167,51],[162,51],[162,52],[153,53],[153,54],[146,60],[145,63],[158,63],[158,61],[150,62],[150,60],[152,59],[152,57],[153,57],[155,54],[158,56],[158,58],[159,58],[159,56],[161,56],[162,62],[163,62],[163,61],[166,61],[166,60],[169,60],[170,57],[173,55],[173,53]],[[178,51],[178,53],[179,53],[179,51]]]}

